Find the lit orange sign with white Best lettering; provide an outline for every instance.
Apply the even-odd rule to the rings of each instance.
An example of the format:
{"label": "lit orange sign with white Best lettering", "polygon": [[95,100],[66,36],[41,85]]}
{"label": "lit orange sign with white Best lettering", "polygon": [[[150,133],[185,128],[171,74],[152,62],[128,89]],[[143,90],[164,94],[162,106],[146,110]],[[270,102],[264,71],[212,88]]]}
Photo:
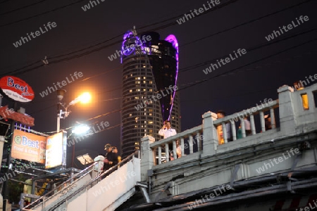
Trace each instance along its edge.
{"label": "lit orange sign with white Best lettering", "polygon": [[46,137],[15,129],[11,156],[15,159],[45,163]]}

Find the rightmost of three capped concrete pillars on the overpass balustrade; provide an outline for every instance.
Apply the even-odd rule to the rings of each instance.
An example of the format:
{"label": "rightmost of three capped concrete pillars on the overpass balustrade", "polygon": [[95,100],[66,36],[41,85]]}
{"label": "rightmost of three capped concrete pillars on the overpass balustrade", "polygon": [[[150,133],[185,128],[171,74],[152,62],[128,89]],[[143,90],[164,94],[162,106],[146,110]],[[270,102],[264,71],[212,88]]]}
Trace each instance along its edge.
{"label": "rightmost of three capped concrete pillars on the overpass balustrade", "polygon": [[292,92],[293,89],[287,85],[278,88],[280,131],[287,135],[295,134],[297,125],[296,103],[292,99]]}

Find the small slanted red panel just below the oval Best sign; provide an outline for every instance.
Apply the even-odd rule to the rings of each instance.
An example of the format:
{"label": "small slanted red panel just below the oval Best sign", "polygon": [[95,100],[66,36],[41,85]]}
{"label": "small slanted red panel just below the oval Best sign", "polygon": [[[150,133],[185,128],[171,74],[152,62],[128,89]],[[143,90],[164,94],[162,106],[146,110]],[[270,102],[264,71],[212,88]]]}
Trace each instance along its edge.
{"label": "small slanted red panel just below the oval Best sign", "polygon": [[15,120],[17,122],[21,122],[26,126],[34,126],[34,118],[29,117],[27,115],[23,115],[22,113],[15,112],[12,109],[8,109],[8,106],[3,106],[0,108],[0,116],[4,119]]}

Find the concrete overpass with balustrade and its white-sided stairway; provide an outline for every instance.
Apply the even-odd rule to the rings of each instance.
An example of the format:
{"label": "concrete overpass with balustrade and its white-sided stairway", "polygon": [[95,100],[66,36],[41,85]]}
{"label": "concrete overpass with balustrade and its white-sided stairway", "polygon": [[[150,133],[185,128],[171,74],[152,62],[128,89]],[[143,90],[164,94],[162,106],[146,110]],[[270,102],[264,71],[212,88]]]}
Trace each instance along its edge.
{"label": "concrete overpass with balustrade and its white-sided stairway", "polygon": [[[308,106],[303,105],[303,96]],[[266,113],[271,114],[268,131]],[[251,122],[249,136],[246,116]],[[242,139],[237,139],[240,122],[235,120],[242,124]],[[225,143],[219,144],[217,127],[225,128],[228,122],[234,141],[224,136]],[[169,160],[170,153],[174,160]],[[101,180],[91,177],[87,168],[66,181],[61,191],[23,210],[290,211],[311,205],[317,199],[317,84],[297,91],[280,87],[277,100],[222,119],[204,113],[202,124],[167,139],[145,136],[140,158],[130,155]]]}

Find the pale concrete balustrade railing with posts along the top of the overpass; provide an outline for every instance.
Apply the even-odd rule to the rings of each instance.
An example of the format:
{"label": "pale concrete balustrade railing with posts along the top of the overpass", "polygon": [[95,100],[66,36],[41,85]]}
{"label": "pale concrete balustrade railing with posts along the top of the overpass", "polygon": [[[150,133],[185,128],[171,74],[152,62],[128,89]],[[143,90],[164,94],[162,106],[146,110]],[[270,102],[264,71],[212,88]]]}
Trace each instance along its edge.
{"label": "pale concrete balustrade railing with posts along the top of the overpass", "polygon": [[[234,113],[232,115],[228,115],[221,119],[217,120],[216,113],[212,113],[211,111],[204,113],[202,115],[203,124],[194,127],[192,129],[187,129],[184,132],[180,132],[175,136],[168,137],[167,139],[161,139],[159,141],[155,141],[151,136],[145,136],[142,139],[142,163],[141,165],[144,167],[144,170],[151,170],[154,165],[163,165],[163,150],[166,151],[166,162],[177,162],[177,154],[176,154],[176,141],[180,141],[180,148],[182,152],[182,156],[185,155],[184,149],[187,147],[187,143],[185,143],[185,139],[188,139],[189,145],[189,154],[193,154],[193,141],[197,140],[198,144],[198,152],[201,159],[209,158],[218,153],[218,132],[217,127],[222,125],[223,134],[225,143],[228,143],[228,137],[226,137],[225,132],[225,124],[230,122],[231,124],[231,136],[233,138],[232,144],[230,147],[222,148],[221,152],[225,152],[227,150],[232,149],[235,143],[240,143],[240,141],[247,141],[247,139],[251,143],[255,143],[256,140],[262,140],[266,136],[266,128],[265,128],[265,120],[264,113],[269,113],[271,115],[271,127],[272,131],[269,133],[270,136],[272,133],[276,133],[276,136],[289,136],[291,134],[296,134],[297,129],[301,126],[299,124],[304,124],[305,122],[316,122],[317,113],[316,113],[316,99],[313,98],[314,94],[317,93],[317,84],[313,84],[311,87],[306,87],[302,90],[294,91],[292,87],[282,86],[278,89],[278,99],[275,101],[267,101],[266,103],[261,103],[261,105],[257,105],[249,108],[247,110],[242,110],[240,112]],[[309,108],[303,108],[302,96],[307,95],[309,101]],[[275,109],[279,109],[279,116],[277,117],[275,114]],[[255,121],[256,115],[259,115],[259,124],[256,124]],[[244,125],[244,117],[249,117],[251,124],[251,136],[247,136]],[[276,129],[275,118],[279,118],[280,120],[280,129]],[[240,120],[242,127],[242,139],[237,140],[236,135],[236,124]],[[303,123],[304,122],[304,123]],[[261,134],[256,134],[256,125],[259,125],[258,132],[261,130]],[[256,135],[256,136],[254,136]],[[263,136],[262,136],[263,135]],[[197,137],[199,137],[197,139]],[[254,137],[254,138],[253,138]],[[261,138],[261,139],[260,139]],[[245,139],[245,141],[244,141]],[[252,140],[252,141],[251,141]],[[248,142],[249,142],[248,141]],[[173,149],[170,151],[169,144],[173,144]],[[244,143],[248,144],[248,143]],[[239,144],[238,144],[239,145]],[[157,149],[157,154],[156,154]],[[170,160],[170,153],[173,153],[173,160]],[[156,155],[158,155],[158,159],[156,159]],[[193,159],[195,157],[192,157]],[[196,159],[196,158],[195,158]],[[188,161],[188,160],[186,160]],[[143,172],[143,171],[142,171]],[[143,179],[146,179],[146,174],[144,173]]]}

